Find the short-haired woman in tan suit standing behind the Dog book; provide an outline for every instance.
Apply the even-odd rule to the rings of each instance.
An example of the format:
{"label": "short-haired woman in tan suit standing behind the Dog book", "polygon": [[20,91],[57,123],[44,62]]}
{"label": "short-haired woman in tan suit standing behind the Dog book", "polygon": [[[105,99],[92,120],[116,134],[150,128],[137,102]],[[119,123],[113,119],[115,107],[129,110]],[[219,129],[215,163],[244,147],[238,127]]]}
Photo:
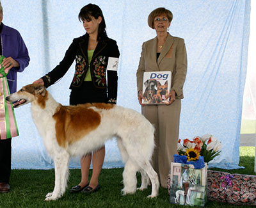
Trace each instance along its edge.
{"label": "short-haired woman in tan suit standing behind the Dog book", "polygon": [[[180,99],[183,99],[183,85],[187,73],[187,54],[184,39],[168,33],[172,22],[172,12],[165,8],[157,8],[148,15],[148,26],[156,30],[156,38],[142,45],[140,64],[137,70],[138,100],[142,114],[156,128],[156,148],[152,164],[159,175],[163,188],[167,188],[167,176],[177,152],[179,138]],[[164,105],[142,104],[143,73],[154,71],[172,72],[172,86],[166,98],[170,101]]]}

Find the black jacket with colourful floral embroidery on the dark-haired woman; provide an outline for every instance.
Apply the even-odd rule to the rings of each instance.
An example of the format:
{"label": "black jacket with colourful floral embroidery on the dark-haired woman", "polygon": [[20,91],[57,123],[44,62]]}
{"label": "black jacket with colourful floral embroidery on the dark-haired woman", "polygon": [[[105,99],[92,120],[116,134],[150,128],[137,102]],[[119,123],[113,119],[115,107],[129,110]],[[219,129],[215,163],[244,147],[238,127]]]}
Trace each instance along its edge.
{"label": "black jacket with colourful floral embroidery on the dark-haired woman", "polygon": [[[60,64],[42,77],[45,87],[51,86],[63,77],[74,60],[76,60],[76,71],[70,84],[70,89],[72,90],[81,86],[89,68],[87,53],[88,40],[89,35],[87,33],[73,40]],[[99,92],[108,92],[108,102],[112,103],[116,103],[118,77],[117,71],[107,70],[107,66],[109,57],[119,58],[119,56],[120,52],[118,51],[116,41],[106,38],[98,42],[90,63],[93,86]]]}

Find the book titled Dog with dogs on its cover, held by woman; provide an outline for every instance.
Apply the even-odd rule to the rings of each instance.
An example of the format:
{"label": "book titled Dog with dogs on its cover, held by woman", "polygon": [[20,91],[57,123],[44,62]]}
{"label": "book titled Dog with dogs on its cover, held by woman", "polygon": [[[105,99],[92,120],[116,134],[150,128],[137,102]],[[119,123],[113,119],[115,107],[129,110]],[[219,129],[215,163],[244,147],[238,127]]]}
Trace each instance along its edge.
{"label": "book titled Dog with dogs on its cover, held by woman", "polygon": [[158,105],[169,102],[166,99],[171,89],[172,72],[144,72],[142,93],[143,104]]}

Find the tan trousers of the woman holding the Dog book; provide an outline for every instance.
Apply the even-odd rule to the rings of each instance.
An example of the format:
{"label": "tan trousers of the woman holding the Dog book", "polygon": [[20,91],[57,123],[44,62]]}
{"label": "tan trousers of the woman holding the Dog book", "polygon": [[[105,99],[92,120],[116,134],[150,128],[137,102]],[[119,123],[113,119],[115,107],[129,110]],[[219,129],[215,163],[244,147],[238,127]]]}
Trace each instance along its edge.
{"label": "tan trousers of the woman holding the Dog book", "polygon": [[156,148],[152,157],[152,166],[156,170],[163,188],[167,188],[173,154],[177,154],[179,138],[180,99],[170,106],[142,106],[141,113],[154,125]]}

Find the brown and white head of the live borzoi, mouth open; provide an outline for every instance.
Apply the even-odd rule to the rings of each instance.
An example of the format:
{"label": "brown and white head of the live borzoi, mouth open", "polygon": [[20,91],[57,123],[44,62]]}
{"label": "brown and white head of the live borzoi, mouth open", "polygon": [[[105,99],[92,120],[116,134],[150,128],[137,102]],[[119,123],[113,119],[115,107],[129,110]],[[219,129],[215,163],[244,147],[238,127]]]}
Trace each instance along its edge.
{"label": "brown and white head of the live borzoi, mouth open", "polygon": [[13,108],[18,108],[38,98],[45,97],[47,90],[41,84],[28,84],[22,87],[18,92],[12,93],[6,97],[8,102],[13,103]]}

